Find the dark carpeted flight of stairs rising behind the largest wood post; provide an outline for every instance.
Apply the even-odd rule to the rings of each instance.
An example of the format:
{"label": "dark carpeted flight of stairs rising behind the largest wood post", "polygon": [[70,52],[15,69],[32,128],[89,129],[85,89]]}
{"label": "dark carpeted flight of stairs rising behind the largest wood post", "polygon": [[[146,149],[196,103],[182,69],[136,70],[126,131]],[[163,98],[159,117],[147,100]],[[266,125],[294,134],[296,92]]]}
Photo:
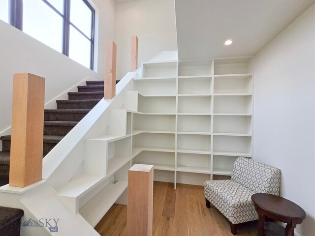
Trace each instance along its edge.
{"label": "dark carpeted flight of stairs rising behind the largest wood post", "polygon": [[[57,100],[57,109],[45,110],[43,157],[104,97],[104,81],[86,81],[86,84],[78,86],[78,92],[68,92],[68,100]],[[0,140],[2,186],[9,183],[11,136],[1,136]]]}

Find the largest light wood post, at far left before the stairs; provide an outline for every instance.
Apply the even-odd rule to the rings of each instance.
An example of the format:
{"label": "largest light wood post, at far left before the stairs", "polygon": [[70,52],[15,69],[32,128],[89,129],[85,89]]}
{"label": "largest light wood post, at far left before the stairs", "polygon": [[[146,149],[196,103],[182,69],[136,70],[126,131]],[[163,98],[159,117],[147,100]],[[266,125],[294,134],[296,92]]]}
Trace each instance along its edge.
{"label": "largest light wood post, at far left before the stairs", "polygon": [[14,74],[9,185],[42,179],[45,78]]}

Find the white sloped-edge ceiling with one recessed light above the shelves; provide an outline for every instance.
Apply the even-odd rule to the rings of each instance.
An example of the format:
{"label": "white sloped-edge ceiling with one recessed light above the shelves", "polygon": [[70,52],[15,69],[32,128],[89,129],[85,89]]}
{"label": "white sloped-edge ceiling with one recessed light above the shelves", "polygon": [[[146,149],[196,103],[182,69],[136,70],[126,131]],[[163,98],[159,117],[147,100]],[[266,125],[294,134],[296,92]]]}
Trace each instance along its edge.
{"label": "white sloped-edge ceiling with one recessed light above the shelves", "polygon": [[[253,56],[314,2],[175,0],[178,57]],[[224,46],[226,39],[233,43]]]}

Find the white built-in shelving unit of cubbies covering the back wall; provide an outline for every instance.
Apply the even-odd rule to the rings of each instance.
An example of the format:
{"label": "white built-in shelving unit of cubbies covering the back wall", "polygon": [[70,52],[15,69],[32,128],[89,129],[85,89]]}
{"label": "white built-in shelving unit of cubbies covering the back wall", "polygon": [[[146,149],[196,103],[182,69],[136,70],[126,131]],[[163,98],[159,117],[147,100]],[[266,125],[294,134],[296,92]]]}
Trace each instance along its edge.
{"label": "white built-in shelving unit of cubbies covering the back wall", "polygon": [[202,184],[252,157],[252,58],[142,64],[134,79],[131,164],[152,164],[157,180]]}

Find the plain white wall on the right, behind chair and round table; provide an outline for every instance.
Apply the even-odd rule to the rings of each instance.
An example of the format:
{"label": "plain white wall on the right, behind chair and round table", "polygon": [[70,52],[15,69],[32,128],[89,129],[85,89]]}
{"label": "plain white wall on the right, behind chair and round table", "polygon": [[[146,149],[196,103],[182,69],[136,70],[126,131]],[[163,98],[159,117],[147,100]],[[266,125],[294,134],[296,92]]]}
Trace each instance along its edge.
{"label": "plain white wall on the right, behind chair and round table", "polygon": [[254,159],[282,171],[281,196],[315,232],[315,4],[254,58]]}

